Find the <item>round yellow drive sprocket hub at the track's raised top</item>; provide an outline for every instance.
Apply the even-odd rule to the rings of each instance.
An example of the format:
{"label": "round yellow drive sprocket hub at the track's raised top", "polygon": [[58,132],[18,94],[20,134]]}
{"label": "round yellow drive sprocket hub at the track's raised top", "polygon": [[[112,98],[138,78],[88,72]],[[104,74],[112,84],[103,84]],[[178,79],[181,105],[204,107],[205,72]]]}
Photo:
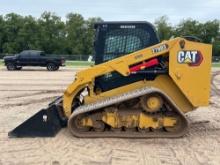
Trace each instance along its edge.
{"label": "round yellow drive sprocket hub at the track's raised top", "polygon": [[163,106],[163,99],[158,94],[143,96],[141,106],[146,112],[158,112]]}

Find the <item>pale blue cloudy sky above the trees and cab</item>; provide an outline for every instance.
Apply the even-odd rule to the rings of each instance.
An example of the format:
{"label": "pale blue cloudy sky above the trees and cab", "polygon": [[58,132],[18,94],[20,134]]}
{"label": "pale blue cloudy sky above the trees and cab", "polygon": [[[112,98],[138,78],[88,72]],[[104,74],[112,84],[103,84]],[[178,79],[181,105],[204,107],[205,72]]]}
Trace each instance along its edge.
{"label": "pale blue cloudy sky above the trees and cab", "polygon": [[0,0],[0,15],[18,13],[40,17],[44,11],[63,20],[70,13],[85,19],[105,21],[149,21],[166,15],[171,24],[193,18],[201,22],[220,19],[220,0]]}

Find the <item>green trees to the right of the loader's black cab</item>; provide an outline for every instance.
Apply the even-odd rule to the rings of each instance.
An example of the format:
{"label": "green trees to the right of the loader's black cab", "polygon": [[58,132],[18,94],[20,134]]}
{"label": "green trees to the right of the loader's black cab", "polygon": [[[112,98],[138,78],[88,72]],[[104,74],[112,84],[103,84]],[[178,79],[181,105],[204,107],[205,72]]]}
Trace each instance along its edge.
{"label": "green trees to the right of the loader's black cab", "polygon": [[213,45],[213,56],[220,57],[220,21],[212,20],[204,23],[193,19],[180,21],[172,26],[167,16],[162,16],[155,21],[155,26],[161,40],[171,37],[195,36],[204,43]]}

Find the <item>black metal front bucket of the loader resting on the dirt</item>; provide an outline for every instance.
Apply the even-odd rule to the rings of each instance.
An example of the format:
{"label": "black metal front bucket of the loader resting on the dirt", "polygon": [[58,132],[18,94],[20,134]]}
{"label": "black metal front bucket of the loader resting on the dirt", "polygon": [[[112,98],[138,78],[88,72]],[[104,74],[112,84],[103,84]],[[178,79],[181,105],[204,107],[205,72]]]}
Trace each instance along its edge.
{"label": "black metal front bucket of the loader resting on the dirt", "polygon": [[8,133],[9,137],[54,137],[66,126],[58,113],[58,107],[50,104]]}

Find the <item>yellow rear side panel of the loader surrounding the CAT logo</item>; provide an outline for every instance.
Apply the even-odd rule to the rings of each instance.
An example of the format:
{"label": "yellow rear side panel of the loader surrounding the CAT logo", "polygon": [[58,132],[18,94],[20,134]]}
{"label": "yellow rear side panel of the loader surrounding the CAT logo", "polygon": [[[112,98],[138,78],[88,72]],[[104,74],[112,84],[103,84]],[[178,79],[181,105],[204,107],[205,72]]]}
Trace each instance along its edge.
{"label": "yellow rear side panel of the loader surrounding the CAT logo", "polygon": [[[189,55],[186,55],[185,61],[181,63],[178,59],[179,51],[199,51],[203,60],[198,66],[190,66],[189,62],[193,58],[189,59]],[[207,106],[209,103],[211,58],[212,46],[208,44],[185,40],[184,49],[177,42],[170,50],[169,75],[195,107]]]}

